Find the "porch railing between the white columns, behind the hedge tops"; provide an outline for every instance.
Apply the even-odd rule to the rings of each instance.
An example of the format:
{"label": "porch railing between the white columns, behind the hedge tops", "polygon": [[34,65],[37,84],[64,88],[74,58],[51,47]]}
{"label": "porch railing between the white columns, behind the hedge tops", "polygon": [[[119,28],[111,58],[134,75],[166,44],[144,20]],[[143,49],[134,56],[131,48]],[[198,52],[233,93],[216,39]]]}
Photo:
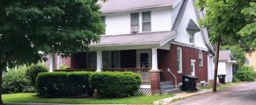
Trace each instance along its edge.
{"label": "porch railing between the white columns, behind the hedge tops", "polygon": [[150,69],[148,67],[142,68],[103,68],[102,71],[109,72],[133,72],[141,75],[141,81],[144,83],[150,82]]}

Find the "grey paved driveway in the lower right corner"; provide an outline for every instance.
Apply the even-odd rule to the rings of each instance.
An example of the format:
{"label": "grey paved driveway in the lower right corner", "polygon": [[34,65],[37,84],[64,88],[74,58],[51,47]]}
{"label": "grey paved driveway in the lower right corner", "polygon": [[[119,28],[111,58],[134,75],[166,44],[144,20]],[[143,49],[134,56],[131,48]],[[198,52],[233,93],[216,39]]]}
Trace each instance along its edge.
{"label": "grey paved driveway in the lower right corner", "polygon": [[256,81],[239,83],[217,93],[193,96],[170,105],[256,105]]}

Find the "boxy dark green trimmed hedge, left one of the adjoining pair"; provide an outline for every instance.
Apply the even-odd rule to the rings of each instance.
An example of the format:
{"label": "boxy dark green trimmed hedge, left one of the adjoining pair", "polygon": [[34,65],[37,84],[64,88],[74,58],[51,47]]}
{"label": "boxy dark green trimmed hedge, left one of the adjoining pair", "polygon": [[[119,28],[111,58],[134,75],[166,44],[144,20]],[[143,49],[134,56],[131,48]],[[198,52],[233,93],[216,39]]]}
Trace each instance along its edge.
{"label": "boxy dark green trimmed hedge, left one of the adjoining pair", "polygon": [[64,97],[72,95],[92,95],[90,72],[39,73],[36,80],[37,94],[46,97]]}

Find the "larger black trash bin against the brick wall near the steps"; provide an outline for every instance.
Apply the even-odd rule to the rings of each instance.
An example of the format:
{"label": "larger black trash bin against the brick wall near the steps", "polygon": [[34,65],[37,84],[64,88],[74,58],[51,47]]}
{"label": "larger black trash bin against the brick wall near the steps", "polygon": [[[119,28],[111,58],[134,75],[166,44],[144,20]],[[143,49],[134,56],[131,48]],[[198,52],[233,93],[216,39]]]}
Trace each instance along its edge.
{"label": "larger black trash bin against the brick wall near the steps", "polygon": [[182,76],[182,90],[183,91],[197,91],[198,77],[183,75]]}

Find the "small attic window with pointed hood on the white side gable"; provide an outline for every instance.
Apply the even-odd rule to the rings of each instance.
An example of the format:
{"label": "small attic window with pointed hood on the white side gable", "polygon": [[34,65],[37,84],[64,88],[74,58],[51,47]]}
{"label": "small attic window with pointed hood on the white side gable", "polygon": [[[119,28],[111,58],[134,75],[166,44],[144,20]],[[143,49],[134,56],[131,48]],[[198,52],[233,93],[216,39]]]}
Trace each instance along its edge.
{"label": "small attic window with pointed hood on the white side gable", "polygon": [[188,31],[189,33],[189,42],[193,44],[195,42],[194,40],[195,33],[200,31],[200,28],[198,27],[198,25],[194,23],[194,21],[192,21],[192,19],[190,19],[186,27],[186,31]]}

